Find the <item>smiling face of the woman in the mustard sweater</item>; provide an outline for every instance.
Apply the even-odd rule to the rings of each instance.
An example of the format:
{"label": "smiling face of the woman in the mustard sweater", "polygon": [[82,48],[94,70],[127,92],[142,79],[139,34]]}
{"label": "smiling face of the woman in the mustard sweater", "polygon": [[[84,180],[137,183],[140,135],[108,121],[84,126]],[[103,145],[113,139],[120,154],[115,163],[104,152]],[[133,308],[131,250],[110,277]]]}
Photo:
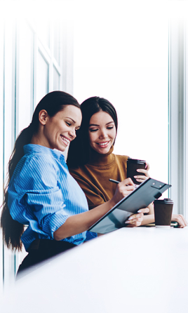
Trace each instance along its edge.
{"label": "smiling face of the woman in the mustard sweater", "polygon": [[90,147],[100,154],[109,152],[116,138],[114,120],[107,113],[100,111],[93,114],[89,123]]}

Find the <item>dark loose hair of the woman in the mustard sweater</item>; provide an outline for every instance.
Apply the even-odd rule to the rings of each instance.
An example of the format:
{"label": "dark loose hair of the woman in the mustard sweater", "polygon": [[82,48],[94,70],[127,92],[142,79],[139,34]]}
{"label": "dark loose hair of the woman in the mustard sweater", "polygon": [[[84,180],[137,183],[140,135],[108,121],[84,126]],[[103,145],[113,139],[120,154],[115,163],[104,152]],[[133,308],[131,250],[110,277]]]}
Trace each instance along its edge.
{"label": "dark loose hair of the woman in the mustard sweater", "polygon": [[116,109],[105,98],[91,97],[81,103],[82,122],[81,128],[76,133],[76,138],[69,145],[67,156],[67,166],[76,168],[88,163],[90,156],[90,144],[88,137],[88,128],[91,116],[100,111],[107,112],[113,119],[116,132],[118,128],[118,119]]}

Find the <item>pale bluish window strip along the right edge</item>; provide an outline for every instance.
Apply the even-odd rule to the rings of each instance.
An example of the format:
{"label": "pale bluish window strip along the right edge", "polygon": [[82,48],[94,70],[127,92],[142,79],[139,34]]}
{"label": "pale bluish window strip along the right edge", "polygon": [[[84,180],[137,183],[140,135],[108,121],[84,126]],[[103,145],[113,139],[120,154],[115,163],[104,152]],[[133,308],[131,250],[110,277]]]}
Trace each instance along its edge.
{"label": "pale bluish window strip along the right edge", "polygon": [[[181,6],[179,15],[170,19],[169,100],[170,100],[170,194],[175,203],[175,213],[188,216],[187,160],[187,22],[180,13],[186,12],[187,4]],[[179,8],[179,6],[178,6]]]}

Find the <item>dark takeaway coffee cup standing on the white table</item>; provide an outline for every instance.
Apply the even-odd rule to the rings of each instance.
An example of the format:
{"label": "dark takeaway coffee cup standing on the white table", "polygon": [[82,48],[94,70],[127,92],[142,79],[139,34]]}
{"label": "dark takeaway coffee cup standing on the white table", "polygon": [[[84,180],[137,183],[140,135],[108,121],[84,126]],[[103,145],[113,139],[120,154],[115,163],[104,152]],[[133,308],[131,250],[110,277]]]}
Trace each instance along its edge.
{"label": "dark takeaway coffee cup standing on the white table", "polygon": [[170,228],[173,213],[171,199],[157,199],[154,201],[155,225],[159,228]]}

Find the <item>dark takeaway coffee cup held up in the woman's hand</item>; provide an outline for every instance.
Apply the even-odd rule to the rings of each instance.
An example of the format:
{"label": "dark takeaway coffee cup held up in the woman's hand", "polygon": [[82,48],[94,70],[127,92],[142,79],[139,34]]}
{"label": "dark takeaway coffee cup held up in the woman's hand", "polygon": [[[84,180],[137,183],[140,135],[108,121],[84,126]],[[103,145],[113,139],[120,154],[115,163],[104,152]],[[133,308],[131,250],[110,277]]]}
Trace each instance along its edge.
{"label": "dark takeaway coffee cup held up in the woman's hand", "polygon": [[135,185],[140,185],[141,182],[137,182],[137,180],[135,180],[134,176],[145,175],[144,173],[137,172],[138,168],[142,168],[145,170],[146,161],[128,158],[128,160],[127,160],[127,177],[131,178],[131,180],[133,180]]}

